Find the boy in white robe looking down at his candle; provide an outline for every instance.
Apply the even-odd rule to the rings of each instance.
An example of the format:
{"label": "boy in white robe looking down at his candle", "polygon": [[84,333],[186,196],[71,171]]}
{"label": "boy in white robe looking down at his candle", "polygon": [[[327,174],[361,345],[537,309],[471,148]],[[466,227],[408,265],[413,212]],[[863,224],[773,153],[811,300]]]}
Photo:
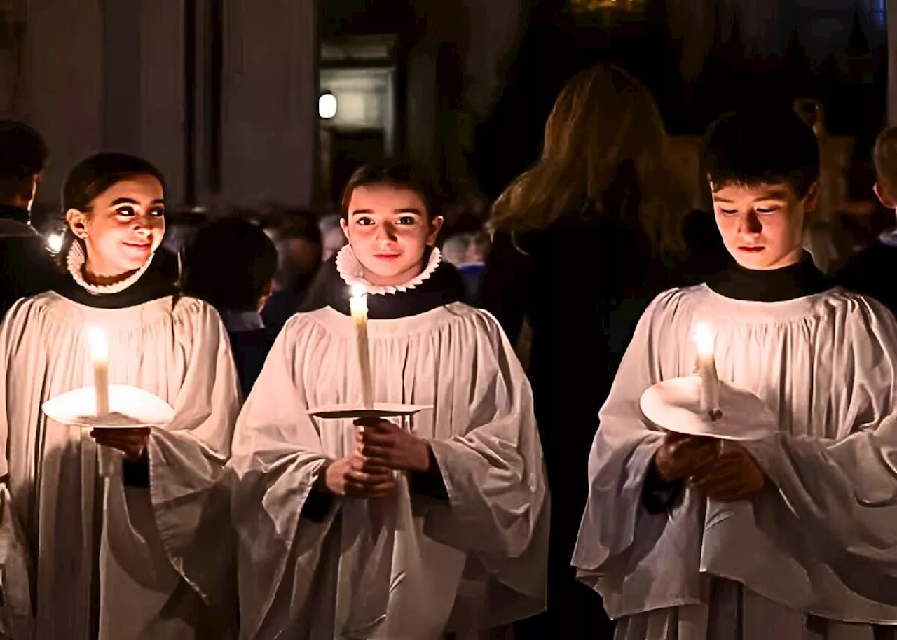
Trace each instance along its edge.
{"label": "boy in white robe looking down at his candle", "polygon": [[[892,638],[897,323],[802,251],[818,151],[797,116],[720,118],[704,163],[734,263],[641,317],[600,412],[573,564],[620,639]],[[692,375],[699,322],[719,377],[757,394],[778,431],[720,454],[642,416],[649,386]]]}

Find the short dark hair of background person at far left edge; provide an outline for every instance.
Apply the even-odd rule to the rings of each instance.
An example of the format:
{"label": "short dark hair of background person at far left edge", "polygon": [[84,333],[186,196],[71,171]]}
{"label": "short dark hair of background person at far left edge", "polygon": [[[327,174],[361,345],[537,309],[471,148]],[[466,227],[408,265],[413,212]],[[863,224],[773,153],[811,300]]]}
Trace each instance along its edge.
{"label": "short dark hair of background person at far left edge", "polygon": [[17,120],[0,119],[0,202],[11,203],[27,193],[47,163],[47,144],[40,134]]}

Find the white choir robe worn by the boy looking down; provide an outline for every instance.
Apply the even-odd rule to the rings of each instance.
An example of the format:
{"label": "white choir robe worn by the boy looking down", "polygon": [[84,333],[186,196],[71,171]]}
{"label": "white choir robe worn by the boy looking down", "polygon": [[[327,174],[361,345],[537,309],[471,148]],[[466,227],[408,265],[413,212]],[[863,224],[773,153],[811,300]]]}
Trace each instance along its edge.
{"label": "white choir robe worn by the boy looking down", "polygon": [[[717,332],[719,377],[778,417],[778,432],[745,443],[768,486],[731,503],[684,489],[668,514],[650,515],[641,491],[663,434],[640,395],[692,375],[701,321]],[[619,620],[617,637],[893,637],[895,375],[897,323],[875,300],[830,290],[747,302],[706,285],[656,298],[600,413],[573,558]]]}

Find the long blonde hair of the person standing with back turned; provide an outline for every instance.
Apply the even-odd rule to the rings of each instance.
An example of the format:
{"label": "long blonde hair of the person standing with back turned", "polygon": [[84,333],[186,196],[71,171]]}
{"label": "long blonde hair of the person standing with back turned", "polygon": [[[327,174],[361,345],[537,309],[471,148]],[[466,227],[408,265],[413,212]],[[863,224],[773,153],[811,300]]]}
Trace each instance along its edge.
{"label": "long blonde hair of the person standing with back turned", "polygon": [[597,215],[631,215],[607,203],[619,170],[631,165],[641,227],[656,249],[684,250],[682,222],[691,197],[666,159],[666,128],[650,92],[614,65],[596,65],[564,86],[545,123],[536,166],[492,205],[489,227],[521,233],[544,229],[564,212],[589,205]]}

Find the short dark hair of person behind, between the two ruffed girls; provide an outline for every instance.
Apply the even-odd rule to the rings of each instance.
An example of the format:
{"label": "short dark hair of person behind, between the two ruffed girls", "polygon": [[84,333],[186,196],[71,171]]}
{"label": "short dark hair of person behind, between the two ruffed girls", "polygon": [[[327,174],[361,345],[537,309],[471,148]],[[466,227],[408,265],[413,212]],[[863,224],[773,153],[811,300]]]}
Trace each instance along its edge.
{"label": "short dark hair of person behind, between the two ruffed girls", "polygon": [[277,270],[271,238],[237,218],[222,218],[199,229],[185,257],[184,290],[219,311],[255,310]]}

